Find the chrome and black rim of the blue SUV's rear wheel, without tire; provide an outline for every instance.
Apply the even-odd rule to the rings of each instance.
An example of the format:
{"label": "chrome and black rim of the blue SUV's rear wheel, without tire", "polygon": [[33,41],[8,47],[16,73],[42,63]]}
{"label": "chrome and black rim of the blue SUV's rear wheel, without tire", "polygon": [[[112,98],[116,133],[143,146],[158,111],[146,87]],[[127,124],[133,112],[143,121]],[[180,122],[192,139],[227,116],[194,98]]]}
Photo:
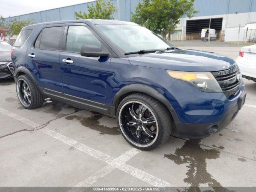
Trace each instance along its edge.
{"label": "chrome and black rim of the blue SUV's rear wheel, without tire", "polygon": [[23,79],[19,79],[16,83],[16,90],[22,105],[29,106],[31,104],[31,92],[28,84]]}

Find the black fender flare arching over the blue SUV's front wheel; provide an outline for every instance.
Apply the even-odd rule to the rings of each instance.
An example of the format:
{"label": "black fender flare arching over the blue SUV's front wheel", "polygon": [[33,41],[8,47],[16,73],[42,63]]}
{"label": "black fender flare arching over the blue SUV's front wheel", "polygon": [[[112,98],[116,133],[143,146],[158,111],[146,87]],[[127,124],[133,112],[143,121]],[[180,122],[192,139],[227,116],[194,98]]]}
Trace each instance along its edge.
{"label": "black fender flare arching over the blue SUV's front wheel", "polygon": [[172,118],[174,119],[174,122],[179,122],[178,116],[174,108],[172,107],[172,104],[170,104],[170,102],[156,89],[143,84],[130,84],[122,87],[114,96],[113,103],[112,103],[113,109],[110,110],[110,113],[113,114],[114,112],[115,114],[115,111],[113,110],[116,110],[117,108],[116,105],[120,102],[120,98],[122,98],[122,96],[128,93],[133,93],[133,92],[141,92],[159,100],[170,111]]}

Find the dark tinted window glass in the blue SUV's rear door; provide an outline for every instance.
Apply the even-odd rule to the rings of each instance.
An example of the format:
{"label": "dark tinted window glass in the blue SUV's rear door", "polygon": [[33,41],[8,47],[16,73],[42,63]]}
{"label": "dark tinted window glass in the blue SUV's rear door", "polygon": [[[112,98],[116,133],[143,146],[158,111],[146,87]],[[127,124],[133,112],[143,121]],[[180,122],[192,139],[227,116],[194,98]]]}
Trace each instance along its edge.
{"label": "dark tinted window glass in the blue SUV's rear door", "polygon": [[46,50],[60,50],[62,26],[44,28],[35,42],[35,48]]}

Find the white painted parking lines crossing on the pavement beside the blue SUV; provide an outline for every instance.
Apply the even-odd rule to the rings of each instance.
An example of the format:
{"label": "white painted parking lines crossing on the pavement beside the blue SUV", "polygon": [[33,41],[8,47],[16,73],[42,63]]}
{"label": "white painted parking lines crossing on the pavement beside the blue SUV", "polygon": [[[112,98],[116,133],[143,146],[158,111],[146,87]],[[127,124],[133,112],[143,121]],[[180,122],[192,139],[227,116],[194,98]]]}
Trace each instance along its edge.
{"label": "white painted parking lines crossing on the pavement beside the blue SUV", "polygon": [[[19,120],[29,126],[34,127],[34,128],[40,126],[39,124],[32,122],[31,120],[26,119],[18,114],[10,112],[2,107],[0,107],[0,112],[2,114],[10,116],[10,117],[12,117],[16,120]],[[44,132],[45,134],[47,134],[61,142],[64,142],[65,144],[73,146],[74,148],[76,148],[90,156],[93,156],[99,160],[102,160],[103,162],[106,162],[108,164],[107,166],[105,166],[104,168],[102,168],[101,170],[99,170],[98,172],[93,174],[92,176],[89,176],[84,181],[80,182],[77,186],[85,186],[85,187],[92,186],[92,184],[94,184],[100,178],[102,178],[105,175],[107,175],[108,173],[110,173],[115,168],[118,168],[119,170],[122,170],[122,171],[124,171],[124,172],[126,172],[126,173],[152,185],[152,186],[156,186],[156,187],[174,186],[160,178],[157,178],[155,176],[152,176],[151,174],[148,174],[147,172],[144,172],[140,169],[137,169],[131,165],[126,164],[125,162],[127,162],[132,157],[134,157],[136,154],[141,152],[140,150],[138,150],[136,148],[132,148],[132,149],[128,150],[127,152],[125,152],[124,154],[119,156],[118,158],[113,158],[113,157],[109,156],[108,154],[104,154],[104,153],[102,153],[98,150],[95,150],[89,146],[86,146],[82,143],[76,142],[75,140],[70,139],[70,138],[68,138],[62,134],[59,134],[53,130],[50,130],[46,127],[44,129],[42,129],[42,132]]]}

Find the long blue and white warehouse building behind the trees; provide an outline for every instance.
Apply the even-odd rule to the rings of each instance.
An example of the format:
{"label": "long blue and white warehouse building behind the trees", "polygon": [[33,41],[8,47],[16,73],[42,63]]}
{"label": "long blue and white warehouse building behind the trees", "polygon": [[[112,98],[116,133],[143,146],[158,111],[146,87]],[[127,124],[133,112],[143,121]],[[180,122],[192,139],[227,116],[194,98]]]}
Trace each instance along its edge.
{"label": "long blue and white warehouse building behind the trees", "polygon": [[[135,12],[140,1],[142,0],[112,0],[117,9],[114,18],[130,21],[131,12]],[[87,5],[90,4],[95,4],[95,1],[13,16],[6,20],[33,19],[35,23],[74,20],[75,12],[87,12]],[[195,0],[194,9],[199,12],[193,18],[183,16],[180,19],[177,31],[172,35],[173,39],[200,38],[201,30],[209,28],[209,24],[210,28],[216,30],[218,38],[225,41],[256,38],[256,30],[244,28],[248,23],[256,23],[256,0]]]}

